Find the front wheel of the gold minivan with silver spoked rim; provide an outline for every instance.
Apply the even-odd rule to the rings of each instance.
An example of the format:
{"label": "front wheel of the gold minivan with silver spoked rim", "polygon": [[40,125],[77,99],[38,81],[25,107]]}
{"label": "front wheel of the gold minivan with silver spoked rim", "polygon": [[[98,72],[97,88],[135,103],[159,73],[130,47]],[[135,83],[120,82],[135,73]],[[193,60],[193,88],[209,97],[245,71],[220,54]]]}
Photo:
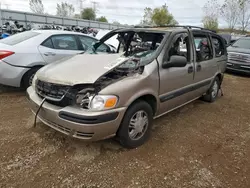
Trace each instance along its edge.
{"label": "front wheel of the gold minivan with silver spoked rim", "polygon": [[150,136],[152,121],[153,110],[147,102],[138,100],[133,103],[125,113],[117,132],[120,144],[128,149],[144,144]]}

